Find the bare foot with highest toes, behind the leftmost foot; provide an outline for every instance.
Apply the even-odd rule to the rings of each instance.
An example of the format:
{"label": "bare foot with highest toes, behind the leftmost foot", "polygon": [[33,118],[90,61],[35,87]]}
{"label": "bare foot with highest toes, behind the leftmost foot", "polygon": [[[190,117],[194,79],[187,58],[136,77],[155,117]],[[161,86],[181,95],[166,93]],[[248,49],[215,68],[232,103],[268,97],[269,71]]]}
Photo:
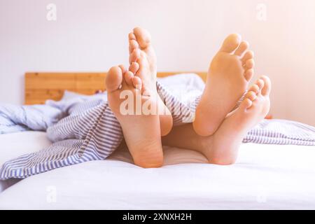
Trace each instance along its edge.
{"label": "bare foot with highest toes, behind the leftmost foot", "polygon": [[[130,71],[132,71],[136,76],[141,78],[144,83],[142,87],[142,92],[150,92],[150,94],[156,94],[156,76],[157,76],[157,59],[155,55],[155,50],[151,44],[151,36],[145,29],[136,27],[129,34],[129,50],[130,50]],[[146,72],[144,72],[144,67],[137,66],[141,64],[139,60],[145,58],[148,62]],[[173,126],[172,114],[167,109],[167,106],[162,102],[160,97],[158,98],[158,114],[160,116],[160,130],[161,136],[169,134]]]}

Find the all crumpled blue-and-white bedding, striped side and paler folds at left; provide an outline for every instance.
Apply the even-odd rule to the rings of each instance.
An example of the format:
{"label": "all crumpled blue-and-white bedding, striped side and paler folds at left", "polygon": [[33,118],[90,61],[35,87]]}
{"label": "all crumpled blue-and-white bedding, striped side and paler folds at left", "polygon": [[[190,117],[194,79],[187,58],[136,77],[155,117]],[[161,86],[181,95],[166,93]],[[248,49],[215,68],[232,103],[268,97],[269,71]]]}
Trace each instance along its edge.
{"label": "all crumpled blue-and-white bedding, striped side and paler folds at left", "polygon": [[[171,76],[160,79],[157,87],[160,97],[169,106],[174,125],[191,123],[204,88],[200,77],[194,74]],[[123,141],[123,132],[109,109],[106,93],[83,96],[66,92],[59,102],[20,108],[3,106],[0,111],[2,132],[46,130],[48,139],[53,142],[42,151],[4,163],[0,179],[23,179],[59,167],[104,160]],[[263,120],[243,141],[314,146],[315,128],[288,120]]]}

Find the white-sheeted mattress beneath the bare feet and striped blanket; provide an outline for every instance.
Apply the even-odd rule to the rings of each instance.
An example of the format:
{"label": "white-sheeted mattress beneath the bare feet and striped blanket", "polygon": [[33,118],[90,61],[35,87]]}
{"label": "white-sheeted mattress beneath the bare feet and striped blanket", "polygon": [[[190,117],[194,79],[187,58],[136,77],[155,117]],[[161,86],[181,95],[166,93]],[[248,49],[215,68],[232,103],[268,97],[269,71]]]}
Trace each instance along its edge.
{"label": "white-sheeted mattress beneath the bare feet and striped blanket", "polygon": [[[50,144],[43,132],[0,136],[1,160]],[[315,209],[315,146],[242,144],[235,165],[164,147],[165,165],[142,169],[126,149],[31,176],[0,193],[0,209]]]}

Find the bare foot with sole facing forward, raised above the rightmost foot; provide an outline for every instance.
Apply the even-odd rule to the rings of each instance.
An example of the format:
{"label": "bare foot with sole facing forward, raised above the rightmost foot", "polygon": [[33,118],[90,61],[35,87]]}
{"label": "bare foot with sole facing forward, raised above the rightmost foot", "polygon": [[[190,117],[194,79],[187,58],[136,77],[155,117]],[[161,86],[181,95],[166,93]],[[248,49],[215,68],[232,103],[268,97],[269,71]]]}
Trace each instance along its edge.
{"label": "bare foot with sole facing forward, raised above the rightmost foot", "polygon": [[196,109],[193,127],[210,136],[243,96],[253,77],[253,52],[237,34],[231,34],[211,62],[207,83]]}

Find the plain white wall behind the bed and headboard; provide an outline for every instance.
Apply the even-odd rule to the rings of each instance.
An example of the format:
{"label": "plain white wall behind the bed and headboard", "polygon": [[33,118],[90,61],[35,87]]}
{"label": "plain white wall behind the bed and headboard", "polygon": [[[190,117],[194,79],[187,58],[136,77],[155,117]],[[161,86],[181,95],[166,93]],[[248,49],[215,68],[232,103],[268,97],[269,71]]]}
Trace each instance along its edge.
{"label": "plain white wall behind the bed and headboard", "polygon": [[[57,21],[46,20],[55,3]],[[258,3],[267,20],[256,18]],[[313,0],[0,0],[0,102],[23,102],[25,71],[106,71],[127,64],[127,34],[151,31],[160,71],[206,71],[238,32],[272,78],[272,114],[315,125]]]}

